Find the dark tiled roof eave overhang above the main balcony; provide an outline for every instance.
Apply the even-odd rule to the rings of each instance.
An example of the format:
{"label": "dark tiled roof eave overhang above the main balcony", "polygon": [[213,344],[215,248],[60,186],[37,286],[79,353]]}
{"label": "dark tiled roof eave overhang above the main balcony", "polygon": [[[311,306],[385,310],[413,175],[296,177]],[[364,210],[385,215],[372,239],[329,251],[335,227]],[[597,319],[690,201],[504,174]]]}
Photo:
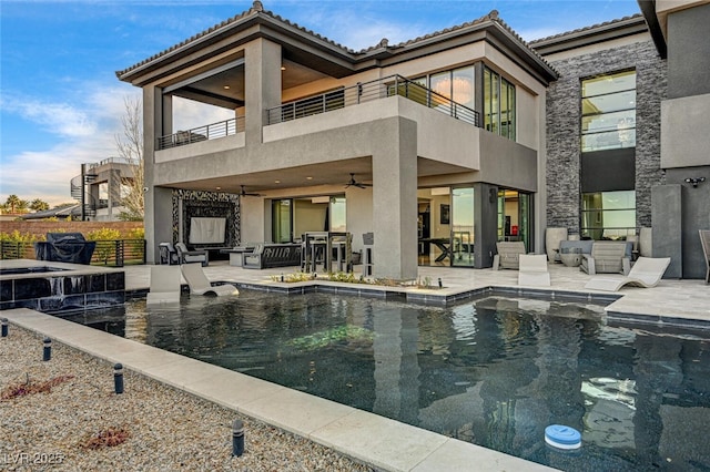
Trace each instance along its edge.
{"label": "dark tiled roof eave overhang above the main balcony", "polygon": [[376,47],[355,52],[258,8],[252,8],[242,16],[224,21],[162,53],[118,71],[116,76],[121,81],[143,86],[174,75],[185,68],[199,65],[211,58],[229,54],[230,51],[260,38],[281,44],[284,59],[336,79],[481,40],[524,66],[545,85],[558,76],[541,57],[498,19],[495,11],[463,25],[404,43],[388,45],[387,41],[383,40]]}

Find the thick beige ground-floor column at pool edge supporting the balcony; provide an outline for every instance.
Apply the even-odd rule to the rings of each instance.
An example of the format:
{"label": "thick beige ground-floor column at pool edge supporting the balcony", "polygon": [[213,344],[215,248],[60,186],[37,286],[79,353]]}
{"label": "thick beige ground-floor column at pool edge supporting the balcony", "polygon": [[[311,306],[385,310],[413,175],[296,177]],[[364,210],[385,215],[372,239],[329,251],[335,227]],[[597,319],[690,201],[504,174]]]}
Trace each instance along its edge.
{"label": "thick beige ground-floor column at pool edge supporting the balcony", "polygon": [[373,274],[415,279],[417,124],[396,117],[378,121],[373,129]]}

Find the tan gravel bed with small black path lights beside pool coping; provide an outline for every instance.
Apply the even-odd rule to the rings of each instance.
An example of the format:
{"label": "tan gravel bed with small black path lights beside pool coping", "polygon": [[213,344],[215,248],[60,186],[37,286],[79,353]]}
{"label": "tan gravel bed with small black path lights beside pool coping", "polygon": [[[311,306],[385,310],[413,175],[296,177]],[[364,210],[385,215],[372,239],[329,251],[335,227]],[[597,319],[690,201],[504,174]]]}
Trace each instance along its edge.
{"label": "tan gravel bed with small black path lights beside pool coping", "polygon": [[[0,338],[0,470],[371,471],[325,447],[9,326]],[[244,422],[244,453],[232,425]]]}

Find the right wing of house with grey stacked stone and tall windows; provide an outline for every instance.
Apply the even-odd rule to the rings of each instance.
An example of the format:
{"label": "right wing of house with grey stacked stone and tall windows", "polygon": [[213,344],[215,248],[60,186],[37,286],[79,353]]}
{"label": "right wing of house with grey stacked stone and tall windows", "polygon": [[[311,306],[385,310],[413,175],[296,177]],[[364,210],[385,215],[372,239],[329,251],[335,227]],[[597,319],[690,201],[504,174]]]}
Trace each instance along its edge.
{"label": "right wing of house with grey stacked stone and tall windows", "polygon": [[666,277],[704,274],[710,228],[708,1],[639,1],[642,14],[530,45],[547,90],[547,224],[592,239],[652,228]]}

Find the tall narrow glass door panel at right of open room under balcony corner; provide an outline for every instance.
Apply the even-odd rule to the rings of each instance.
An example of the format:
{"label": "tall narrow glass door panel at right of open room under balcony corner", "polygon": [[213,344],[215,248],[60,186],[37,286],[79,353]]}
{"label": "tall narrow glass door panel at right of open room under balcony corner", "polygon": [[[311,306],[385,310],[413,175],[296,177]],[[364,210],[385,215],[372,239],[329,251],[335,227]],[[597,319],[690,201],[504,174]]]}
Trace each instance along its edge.
{"label": "tall narrow glass door panel at right of open room under balcony corner", "polygon": [[452,266],[474,266],[474,188],[452,189]]}

